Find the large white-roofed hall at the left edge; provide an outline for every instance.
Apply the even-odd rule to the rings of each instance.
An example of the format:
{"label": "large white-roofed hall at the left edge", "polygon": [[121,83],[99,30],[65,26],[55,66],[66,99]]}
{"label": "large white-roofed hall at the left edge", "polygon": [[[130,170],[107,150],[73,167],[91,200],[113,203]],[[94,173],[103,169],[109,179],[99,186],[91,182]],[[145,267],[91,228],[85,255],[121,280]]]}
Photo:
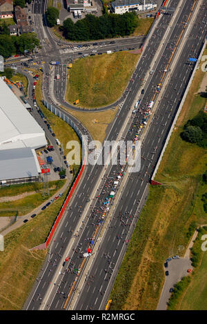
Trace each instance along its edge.
{"label": "large white-roofed hall at the left edge", "polygon": [[0,98],[1,184],[38,181],[35,150],[47,145],[45,132],[1,78]]}

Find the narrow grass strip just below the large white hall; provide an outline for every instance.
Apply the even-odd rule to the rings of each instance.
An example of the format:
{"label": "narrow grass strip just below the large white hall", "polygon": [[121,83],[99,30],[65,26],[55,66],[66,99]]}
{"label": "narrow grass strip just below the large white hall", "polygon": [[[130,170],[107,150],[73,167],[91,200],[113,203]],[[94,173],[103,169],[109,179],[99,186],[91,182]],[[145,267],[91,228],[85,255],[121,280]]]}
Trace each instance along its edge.
{"label": "narrow grass strip just below the large white hall", "polygon": [[[55,183],[55,181],[53,182]],[[29,196],[25,196],[23,199],[18,199],[16,201],[0,203],[1,216],[10,216],[11,210],[15,210],[16,212],[18,211],[19,216],[26,215],[29,212],[32,212],[32,210],[41,205],[41,203],[43,203],[44,201],[48,200],[50,196],[55,194],[55,192],[57,192],[57,190],[59,190],[65,182],[66,180],[57,181],[57,185],[55,185],[55,188],[49,190],[49,196],[46,194],[43,197],[42,192],[39,192],[37,194],[30,194]]]}

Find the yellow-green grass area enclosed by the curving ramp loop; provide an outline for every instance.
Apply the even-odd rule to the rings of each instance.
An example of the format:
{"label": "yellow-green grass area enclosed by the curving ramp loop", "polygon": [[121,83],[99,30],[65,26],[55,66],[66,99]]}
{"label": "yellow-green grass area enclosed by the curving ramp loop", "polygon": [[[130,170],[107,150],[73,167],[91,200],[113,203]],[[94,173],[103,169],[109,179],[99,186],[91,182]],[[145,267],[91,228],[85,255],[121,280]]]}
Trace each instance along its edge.
{"label": "yellow-green grass area enclosed by the curving ramp loop", "polygon": [[140,54],[116,52],[86,57],[68,69],[66,101],[79,107],[99,108],[115,102],[124,92]]}

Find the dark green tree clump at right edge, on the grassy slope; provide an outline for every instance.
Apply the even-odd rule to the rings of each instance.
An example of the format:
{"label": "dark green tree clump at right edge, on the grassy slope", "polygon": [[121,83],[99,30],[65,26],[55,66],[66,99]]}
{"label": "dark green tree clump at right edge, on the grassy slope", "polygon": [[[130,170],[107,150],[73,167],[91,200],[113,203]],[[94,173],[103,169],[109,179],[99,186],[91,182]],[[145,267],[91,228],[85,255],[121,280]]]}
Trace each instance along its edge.
{"label": "dark green tree clump at right edge, on the grassy slope", "polygon": [[190,143],[206,148],[207,147],[207,114],[200,111],[197,116],[187,121],[184,125],[184,132],[181,138]]}

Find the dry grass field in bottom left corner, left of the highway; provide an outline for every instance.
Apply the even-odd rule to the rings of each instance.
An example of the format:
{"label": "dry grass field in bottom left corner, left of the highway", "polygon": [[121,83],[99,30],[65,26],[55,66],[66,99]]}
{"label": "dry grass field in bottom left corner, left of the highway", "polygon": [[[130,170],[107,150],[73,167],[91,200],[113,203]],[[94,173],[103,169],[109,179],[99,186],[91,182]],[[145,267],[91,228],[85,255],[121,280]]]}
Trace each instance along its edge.
{"label": "dry grass field in bottom left corner, left of the highway", "polygon": [[65,197],[63,194],[34,219],[4,236],[5,250],[0,252],[1,310],[23,307],[47,252],[28,249],[46,241]]}

